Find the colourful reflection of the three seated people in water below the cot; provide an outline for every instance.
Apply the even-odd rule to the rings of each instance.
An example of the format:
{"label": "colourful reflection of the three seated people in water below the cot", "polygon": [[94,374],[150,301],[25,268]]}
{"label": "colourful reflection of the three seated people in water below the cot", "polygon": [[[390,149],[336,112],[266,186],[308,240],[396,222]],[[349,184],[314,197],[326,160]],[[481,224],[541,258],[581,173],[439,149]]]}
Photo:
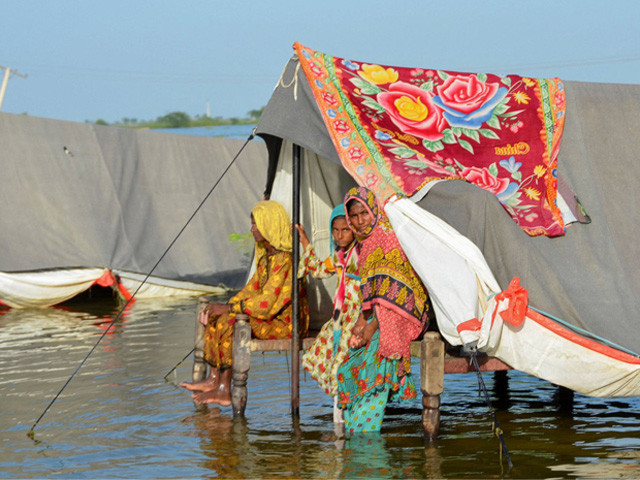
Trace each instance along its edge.
{"label": "colourful reflection of the three seated people in water below the cot", "polygon": [[[198,466],[216,476],[258,478],[265,472],[277,472],[284,478],[415,476],[411,475],[415,470],[412,465],[397,463],[380,433],[337,439],[331,434],[305,431],[299,421],[293,421],[286,430],[255,430],[247,420],[233,418],[217,407],[197,410],[184,423],[198,435],[206,456]],[[437,449],[430,446],[425,452],[425,468],[430,473],[427,478],[442,478]]]}

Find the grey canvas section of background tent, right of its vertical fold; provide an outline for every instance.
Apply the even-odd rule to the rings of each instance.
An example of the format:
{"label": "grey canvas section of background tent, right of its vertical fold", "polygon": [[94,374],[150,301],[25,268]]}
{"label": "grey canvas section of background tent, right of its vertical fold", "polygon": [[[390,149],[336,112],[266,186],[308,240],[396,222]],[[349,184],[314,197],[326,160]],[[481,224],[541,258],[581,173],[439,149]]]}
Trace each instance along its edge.
{"label": "grey canvas section of background tent, right of its vertical fold", "polygon": [[[171,243],[243,142],[151,132],[128,142],[127,133],[101,129],[97,136],[105,146],[104,155],[110,174],[116,179],[117,196],[126,206],[119,209],[127,236],[133,245],[139,246],[134,249],[136,268],[130,265],[118,268],[147,272],[159,258],[158,252]],[[159,141],[158,136],[166,138]],[[117,161],[128,157],[139,160]],[[247,145],[158,266],[158,276],[241,286],[250,255],[231,244],[229,235],[249,231],[251,207],[259,200],[263,187],[256,171],[266,171],[265,157],[262,142]]]}

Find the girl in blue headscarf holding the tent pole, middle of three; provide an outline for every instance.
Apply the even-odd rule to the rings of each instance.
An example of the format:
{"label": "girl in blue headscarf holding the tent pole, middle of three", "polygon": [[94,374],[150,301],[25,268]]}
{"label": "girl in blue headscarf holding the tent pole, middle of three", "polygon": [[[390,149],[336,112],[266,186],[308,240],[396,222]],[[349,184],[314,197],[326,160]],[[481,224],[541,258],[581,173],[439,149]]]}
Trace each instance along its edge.
{"label": "girl in blue headscarf holding the tent pole, middle of three", "polygon": [[334,422],[340,424],[342,410],[337,408],[336,372],[344,361],[353,325],[360,313],[360,277],[358,254],[353,231],[347,224],[344,204],[333,209],[331,227],[331,255],[320,260],[309,242],[302,225],[296,225],[304,253],[298,267],[298,277],[310,274],[315,278],[338,275],[333,298],[333,316],[327,321],[311,348],[302,356],[302,365],[328,395],[334,398]]}

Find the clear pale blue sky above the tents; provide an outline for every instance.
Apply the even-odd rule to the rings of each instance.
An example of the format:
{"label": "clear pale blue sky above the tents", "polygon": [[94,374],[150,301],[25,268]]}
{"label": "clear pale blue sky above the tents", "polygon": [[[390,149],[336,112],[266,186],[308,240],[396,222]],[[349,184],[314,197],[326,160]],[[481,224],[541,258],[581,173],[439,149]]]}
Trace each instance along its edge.
{"label": "clear pale blue sky above the tents", "polygon": [[[640,83],[638,0],[0,0],[2,111],[244,117],[292,44],[370,63]],[[0,72],[2,75],[4,72]],[[0,77],[1,78],[1,77]]]}

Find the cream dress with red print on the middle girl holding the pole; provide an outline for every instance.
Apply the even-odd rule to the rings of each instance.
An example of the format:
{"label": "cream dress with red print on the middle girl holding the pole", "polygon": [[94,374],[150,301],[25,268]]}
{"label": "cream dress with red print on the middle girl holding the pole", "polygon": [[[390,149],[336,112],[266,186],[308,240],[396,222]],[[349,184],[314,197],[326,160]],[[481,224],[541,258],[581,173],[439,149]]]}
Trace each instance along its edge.
{"label": "cream dress with red print on the middle girl holding the pole", "polygon": [[357,269],[355,242],[347,250],[334,251],[324,261],[316,256],[313,246],[308,245],[298,269],[298,276],[307,273],[315,278],[328,278],[334,274],[339,276],[333,317],[323,325],[311,348],[302,356],[304,368],[320,388],[331,396],[337,393],[338,367],[347,356],[347,342],[360,314],[360,277]]}

